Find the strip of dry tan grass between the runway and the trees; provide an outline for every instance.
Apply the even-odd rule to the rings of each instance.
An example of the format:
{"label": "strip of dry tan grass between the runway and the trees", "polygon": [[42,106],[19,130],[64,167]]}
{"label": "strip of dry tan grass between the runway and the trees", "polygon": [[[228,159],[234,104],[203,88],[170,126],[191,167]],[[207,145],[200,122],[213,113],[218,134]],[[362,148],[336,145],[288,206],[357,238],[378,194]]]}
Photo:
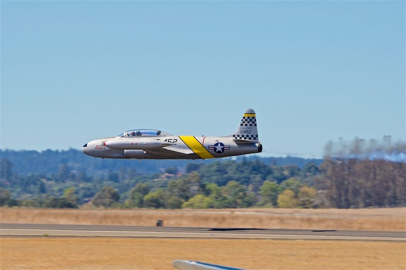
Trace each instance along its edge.
{"label": "strip of dry tan grass between the runway and the trees", "polygon": [[406,230],[406,208],[84,210],[0,208],[1,223]]}

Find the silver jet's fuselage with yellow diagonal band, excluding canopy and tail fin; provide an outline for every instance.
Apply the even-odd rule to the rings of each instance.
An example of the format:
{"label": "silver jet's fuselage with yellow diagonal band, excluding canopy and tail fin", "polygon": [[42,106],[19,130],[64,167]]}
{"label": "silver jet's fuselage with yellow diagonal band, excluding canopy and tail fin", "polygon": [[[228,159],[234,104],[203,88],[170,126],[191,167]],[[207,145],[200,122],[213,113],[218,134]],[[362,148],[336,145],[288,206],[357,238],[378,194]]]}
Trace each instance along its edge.
{"label": "silver jet's fuselage with yellow diagonal band, excluding canopy and tail fin", "polygon": [[96,158],[213,159],[262,151],[260,143],[226,137],[170,136],[159,138],[112,137],[88,142],[82,151]]}

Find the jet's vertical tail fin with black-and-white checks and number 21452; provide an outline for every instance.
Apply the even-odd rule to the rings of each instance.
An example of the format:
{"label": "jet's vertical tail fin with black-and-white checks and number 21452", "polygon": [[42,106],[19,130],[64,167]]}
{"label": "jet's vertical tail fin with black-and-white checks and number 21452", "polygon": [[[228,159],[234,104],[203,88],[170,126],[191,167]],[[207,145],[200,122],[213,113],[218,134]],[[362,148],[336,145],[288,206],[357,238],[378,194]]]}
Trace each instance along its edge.
{"label": "jet's vertical tail fin with black-and-white checks and number 21452", "polygon": [[257,120],[253,109],[246,109],[237,131],[232,134],[234,140],[258,142]]}

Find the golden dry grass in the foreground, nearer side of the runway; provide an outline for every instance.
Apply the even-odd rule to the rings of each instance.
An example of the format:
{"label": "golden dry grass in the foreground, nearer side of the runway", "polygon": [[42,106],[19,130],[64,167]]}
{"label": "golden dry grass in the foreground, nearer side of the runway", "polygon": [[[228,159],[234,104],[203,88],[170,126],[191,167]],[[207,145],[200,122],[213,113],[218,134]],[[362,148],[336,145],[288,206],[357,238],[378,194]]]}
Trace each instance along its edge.
{"label": "golden dry grass in the foreground, nearer side of the runway", "polygon": [[174,269],[176,259],[246,269],[405,269],[406,244],[224,239],[1,238],[0,268]]}

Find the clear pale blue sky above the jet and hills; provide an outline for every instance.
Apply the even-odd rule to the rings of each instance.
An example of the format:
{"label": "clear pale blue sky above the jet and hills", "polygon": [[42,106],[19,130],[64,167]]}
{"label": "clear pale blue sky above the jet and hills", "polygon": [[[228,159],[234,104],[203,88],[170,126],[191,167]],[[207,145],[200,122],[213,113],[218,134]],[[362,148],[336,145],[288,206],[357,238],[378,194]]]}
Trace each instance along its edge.
{"label": "clear pale blue sky above the jet and hills", "polygon": [[267,155],[405,137],[405,2],[1,1],[2,149],[135,128],[228,135]]}

